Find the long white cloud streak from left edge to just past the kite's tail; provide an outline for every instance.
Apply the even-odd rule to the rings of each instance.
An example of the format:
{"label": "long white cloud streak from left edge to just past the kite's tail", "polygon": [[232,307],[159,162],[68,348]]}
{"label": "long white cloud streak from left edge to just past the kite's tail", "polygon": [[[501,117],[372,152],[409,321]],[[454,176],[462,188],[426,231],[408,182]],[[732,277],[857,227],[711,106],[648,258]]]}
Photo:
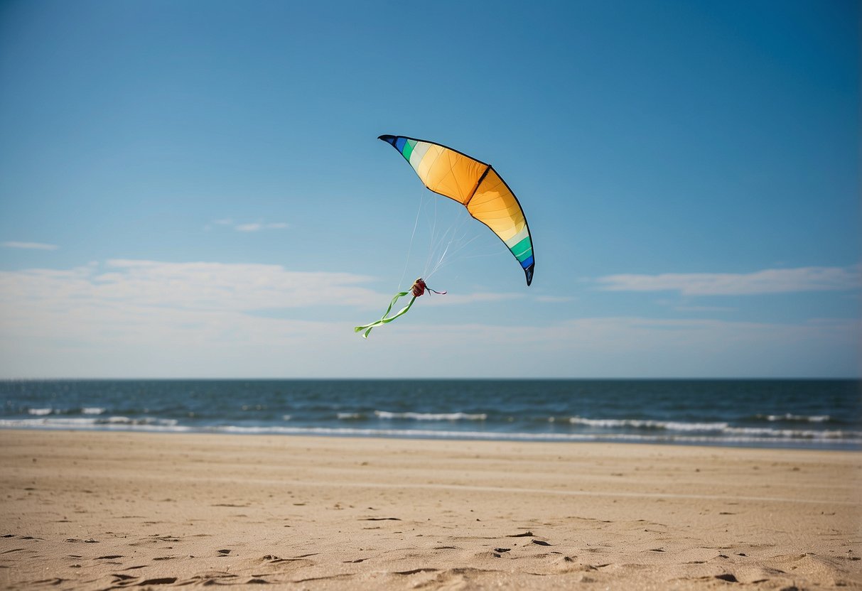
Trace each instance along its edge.
{"label": "long white cloud streak from left edge to just past the kite's tail", "polygon": [[[0,271],[0,305],[79,305],[250,312],[283,308],[372,308],[391,297],[365,287],[372,277],[290,271],[278,264],[169,263],[109,259],[68,270]],[[427,305],[498,302],[520,294],[428,295]]]}

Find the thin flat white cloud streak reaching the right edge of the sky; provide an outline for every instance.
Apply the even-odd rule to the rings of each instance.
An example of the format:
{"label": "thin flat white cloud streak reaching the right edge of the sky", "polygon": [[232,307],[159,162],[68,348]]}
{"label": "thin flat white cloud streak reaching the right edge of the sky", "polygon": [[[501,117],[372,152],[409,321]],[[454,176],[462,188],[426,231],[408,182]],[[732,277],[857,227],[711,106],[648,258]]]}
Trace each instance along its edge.
{"label": "thin flat white cloud streak reaching the right edge of the sky", "polygon": [[801,267],[752,273],[663,273],[599,277],[608,291],[678,291],[684,296],[748,296],[862,287],[862,267]]}

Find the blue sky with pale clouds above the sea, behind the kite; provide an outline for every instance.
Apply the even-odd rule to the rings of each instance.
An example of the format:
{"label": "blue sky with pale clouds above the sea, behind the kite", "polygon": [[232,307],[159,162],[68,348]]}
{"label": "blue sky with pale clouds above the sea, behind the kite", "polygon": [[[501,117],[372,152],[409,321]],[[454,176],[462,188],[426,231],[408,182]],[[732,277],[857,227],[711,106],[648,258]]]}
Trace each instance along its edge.
{"label": "blue sky with pale clouds above the sea, behind the kite", "polygon": [[[859,21],[4,2],[0,376],[859,376]],[[533,285],[379,134],[495,165]]]}

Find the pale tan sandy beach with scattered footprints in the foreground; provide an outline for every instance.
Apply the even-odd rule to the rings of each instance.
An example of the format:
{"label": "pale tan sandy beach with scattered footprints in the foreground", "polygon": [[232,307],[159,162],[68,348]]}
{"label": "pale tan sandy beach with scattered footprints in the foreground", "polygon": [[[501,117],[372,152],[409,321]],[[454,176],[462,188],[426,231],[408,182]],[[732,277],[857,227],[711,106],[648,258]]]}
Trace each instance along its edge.
{"label": "pale tan sandy beach with scattered footprints in the foreground", "polygon": [[862,589],[862,456],[2,431],[0,586]]}

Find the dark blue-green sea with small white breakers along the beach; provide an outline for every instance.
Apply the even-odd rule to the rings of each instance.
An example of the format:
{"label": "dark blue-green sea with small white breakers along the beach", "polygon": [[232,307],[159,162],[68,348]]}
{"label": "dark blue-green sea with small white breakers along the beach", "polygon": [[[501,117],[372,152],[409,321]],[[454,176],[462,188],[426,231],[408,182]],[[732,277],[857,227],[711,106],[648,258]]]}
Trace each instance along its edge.
{"label": "dark blue-green sea with small white breakers along the beach", "polygon": [[862,450],[856,380],[13,380],[0,428]]}

